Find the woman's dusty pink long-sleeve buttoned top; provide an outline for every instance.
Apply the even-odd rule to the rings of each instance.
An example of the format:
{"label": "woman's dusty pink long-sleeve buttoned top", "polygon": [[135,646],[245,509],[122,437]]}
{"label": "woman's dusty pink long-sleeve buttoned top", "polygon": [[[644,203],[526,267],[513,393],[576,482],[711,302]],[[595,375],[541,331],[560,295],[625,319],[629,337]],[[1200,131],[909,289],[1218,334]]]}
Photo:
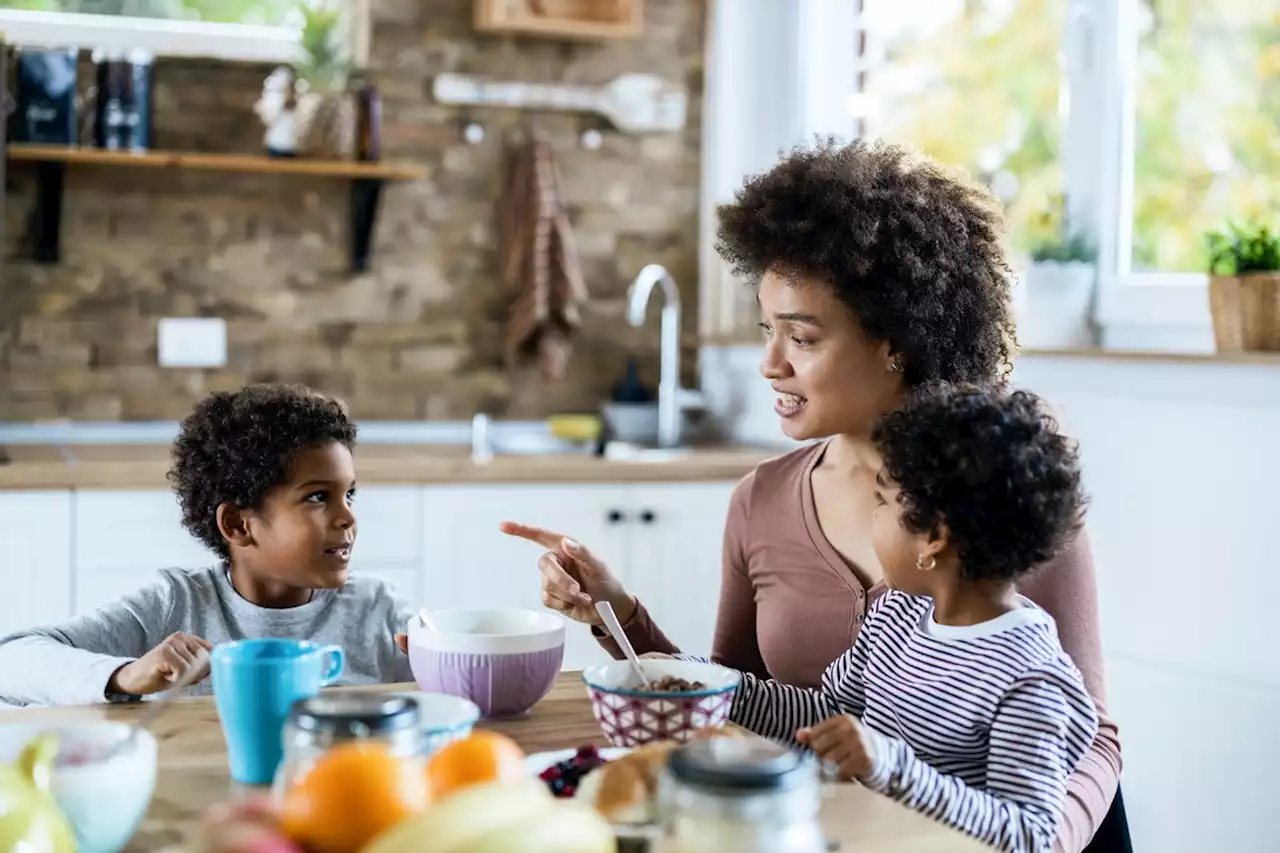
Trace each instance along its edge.
{"label": "woman's dusty pink long-sleeve buttoned top", "polygon": [[[762,462],[733,491],[712,660],[786,684],[818,686],[827,665],[852,647],[867,610],[883,590],[867,587],[818,524],[810,474],[815,443]],[[1062,648],[1084,676],[1098,734],[1071,776],[1055,850],[1079,853],[1093,838],[1120,779],[1120,740],[1107,716],[1098,596],[1088,537],[1082,534],[1020,592],[1057,622]],[[639,653],[680,649],[641,602],[623,626]],[[617,646],[595,633],[602,646]],[[690,649],[694,651],[694,649]]]}

